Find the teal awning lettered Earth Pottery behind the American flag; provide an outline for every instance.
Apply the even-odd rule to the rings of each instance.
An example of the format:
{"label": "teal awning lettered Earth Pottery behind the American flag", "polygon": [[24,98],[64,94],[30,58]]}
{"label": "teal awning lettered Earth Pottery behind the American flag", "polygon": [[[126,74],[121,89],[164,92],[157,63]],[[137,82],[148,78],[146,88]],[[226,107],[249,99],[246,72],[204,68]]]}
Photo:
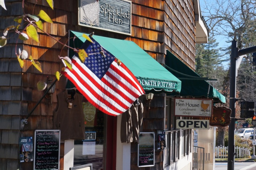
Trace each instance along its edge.
{"label": "teal awning lettered Earth Pottery behind the American flag", "polygon": [[[69,45],[75,48],[80,48],[83,42],[86,41],[86,39],[82,37],[83,34],[84,33],[81,32],[69,31]],[[75,36],[78,38],[73,42],[72,37]],[[143,89],[147,92],[180,92],[181,81],[133,41],[101,37],[97,35],[93,35],[93,38],[103,46],[103,48],[124,63],[124,65],[126,65],[136,76]],[[69,50],[69,57],[72,57],[73,55],[74,51]]]}

